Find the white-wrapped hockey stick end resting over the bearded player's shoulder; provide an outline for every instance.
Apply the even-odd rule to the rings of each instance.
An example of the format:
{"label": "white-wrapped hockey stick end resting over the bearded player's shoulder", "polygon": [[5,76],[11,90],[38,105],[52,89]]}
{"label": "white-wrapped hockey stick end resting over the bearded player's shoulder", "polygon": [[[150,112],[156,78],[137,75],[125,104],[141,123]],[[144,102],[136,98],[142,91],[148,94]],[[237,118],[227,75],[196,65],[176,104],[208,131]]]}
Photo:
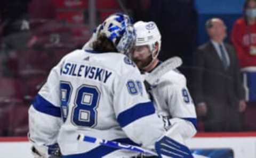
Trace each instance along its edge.
{"label": "white-wrapped hockey stick end resting over the bearded player's shoulder", "polygon": [[182,60],[180,57],[172,57],[167,59],[161,65],[157,66],[151,73],[149,73],[145,80],[153,85],[157,80],[163,76],[165,73],[169,72],[171,69],[175,69],[182,65]]}

